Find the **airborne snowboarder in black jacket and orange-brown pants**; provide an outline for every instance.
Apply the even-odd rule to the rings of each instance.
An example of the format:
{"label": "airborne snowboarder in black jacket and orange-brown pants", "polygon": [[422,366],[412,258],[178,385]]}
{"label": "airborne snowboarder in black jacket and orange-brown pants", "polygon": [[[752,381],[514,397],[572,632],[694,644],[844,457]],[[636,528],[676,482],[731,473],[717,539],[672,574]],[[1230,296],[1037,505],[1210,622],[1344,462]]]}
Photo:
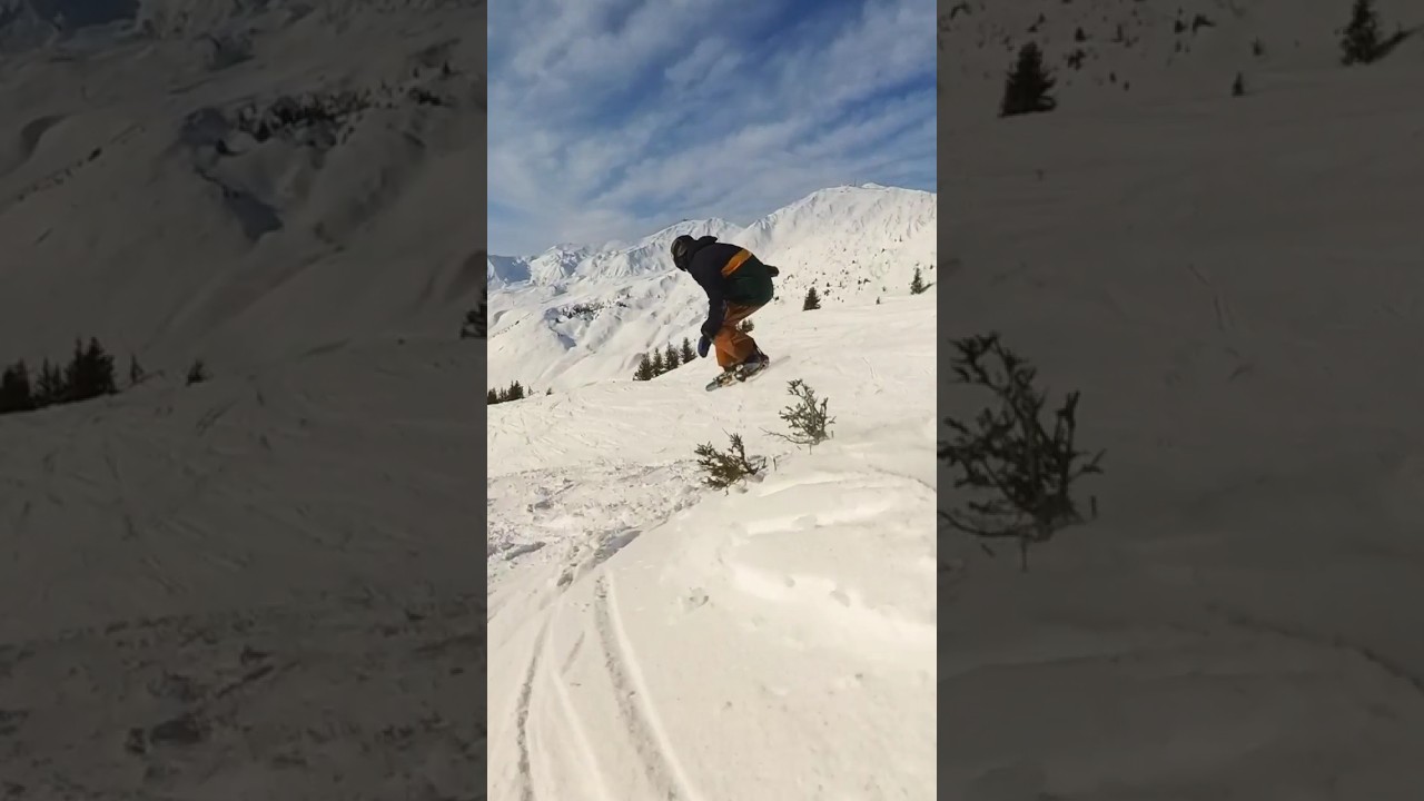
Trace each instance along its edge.
{"label": "airborne snowboarder in black jacket and orange-brown pants", "polygon": [[686,234],[672,241],[672,264],[708,294],[698,356],[706,358],[708,349],[716,346],[716,363],[722,368],[718,381],[745,379],[765,368],[770,359],[738,324],[772,302],[772,278],[780,271],[762,264],[746,248]]}

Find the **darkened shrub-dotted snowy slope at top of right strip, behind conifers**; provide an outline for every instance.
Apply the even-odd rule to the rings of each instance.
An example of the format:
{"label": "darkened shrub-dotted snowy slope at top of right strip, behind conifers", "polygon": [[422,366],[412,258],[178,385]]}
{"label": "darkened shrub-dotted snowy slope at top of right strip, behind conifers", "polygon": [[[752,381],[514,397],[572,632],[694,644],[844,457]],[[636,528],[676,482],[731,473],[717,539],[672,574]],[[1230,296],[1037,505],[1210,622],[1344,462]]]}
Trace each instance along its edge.
{"label": "darkened shrub-dotted snowy slope at top of right strip, behind conifers", "polygon": [[[1018,48],[1035,41],[1058,76],[1059,113],[1122,114],[1148,104],[1223,98],[1339,68],[1353,0],[954,0],[940,3],[943,125],[993,120]],[[1424,26],[1418,0],[1376,0],[1381,34]],[[1079,34],[1081,31],[1081,34]],[[1424,37],[1384,63],[1424,64]],[[987,135],[987,134],[985,134]],[[941,153],[954,157],[958,148]]]}

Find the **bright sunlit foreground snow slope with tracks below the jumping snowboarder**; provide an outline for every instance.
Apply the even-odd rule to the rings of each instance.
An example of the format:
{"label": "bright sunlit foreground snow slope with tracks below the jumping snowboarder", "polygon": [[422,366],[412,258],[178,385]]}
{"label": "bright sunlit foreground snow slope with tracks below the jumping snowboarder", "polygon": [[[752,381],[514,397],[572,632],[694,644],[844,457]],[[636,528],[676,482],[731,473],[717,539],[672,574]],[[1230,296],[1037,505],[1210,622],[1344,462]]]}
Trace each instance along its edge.
{"label": "bright sunlit foreground snow slope with tracks below the jumping snowboarder", "polygon": [[[776,331],[746,385],[490,406],[493,801],[936,797],[934,296]],[[796,378],[810,452],[766,433]],[[773,466],[702,489],[726,432]]]}

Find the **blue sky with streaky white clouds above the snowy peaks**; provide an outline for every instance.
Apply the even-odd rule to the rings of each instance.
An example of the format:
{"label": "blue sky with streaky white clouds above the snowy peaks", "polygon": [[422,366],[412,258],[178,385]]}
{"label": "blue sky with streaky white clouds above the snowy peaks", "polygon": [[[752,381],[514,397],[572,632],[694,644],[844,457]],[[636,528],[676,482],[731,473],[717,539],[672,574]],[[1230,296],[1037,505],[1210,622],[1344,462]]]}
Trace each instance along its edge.
{"label": "blue sky with streaky white clouds above the snowy peaks", "polygon": [[490,251],[933,190],[930,0],[490,3]]}

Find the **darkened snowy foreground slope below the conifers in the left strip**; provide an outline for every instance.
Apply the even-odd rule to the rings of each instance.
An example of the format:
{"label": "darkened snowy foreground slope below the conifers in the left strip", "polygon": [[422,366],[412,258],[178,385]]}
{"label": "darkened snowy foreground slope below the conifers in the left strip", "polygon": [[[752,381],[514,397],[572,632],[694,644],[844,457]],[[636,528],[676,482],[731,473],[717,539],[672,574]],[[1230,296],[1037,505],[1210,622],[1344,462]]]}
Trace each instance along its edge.
{"label": "darkened snowy foreground slope below the conifers in the left strip", "polygon": [[7,792],[476,798],[461,345],[0,418]]}

